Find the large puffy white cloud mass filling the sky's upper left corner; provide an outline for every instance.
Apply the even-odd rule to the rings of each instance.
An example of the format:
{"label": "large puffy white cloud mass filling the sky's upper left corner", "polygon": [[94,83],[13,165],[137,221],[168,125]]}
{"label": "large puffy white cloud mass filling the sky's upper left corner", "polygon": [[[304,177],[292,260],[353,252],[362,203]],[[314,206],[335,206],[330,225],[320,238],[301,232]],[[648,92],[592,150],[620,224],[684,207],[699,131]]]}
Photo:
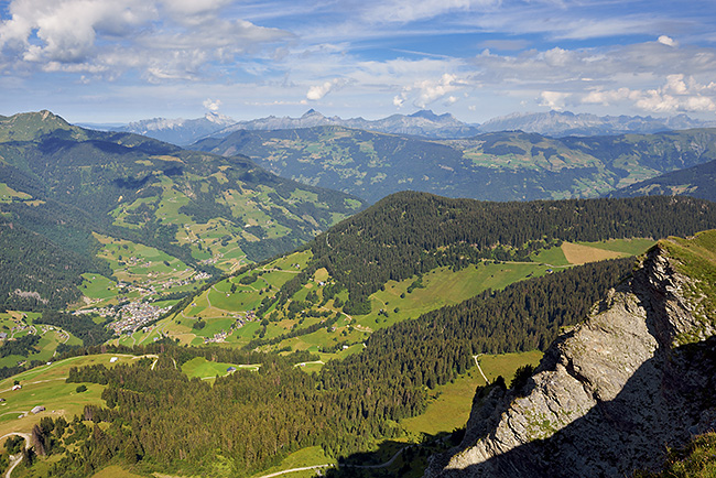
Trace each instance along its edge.
{"label": "large puffy white cloud mass filling the sky's upper left corner", "polygon": [[291,35],[219,15],[228,0],[12,0],[0,54],[21,67],[105,74],[137,69],[150,82],[198,77],[211,62]]}

